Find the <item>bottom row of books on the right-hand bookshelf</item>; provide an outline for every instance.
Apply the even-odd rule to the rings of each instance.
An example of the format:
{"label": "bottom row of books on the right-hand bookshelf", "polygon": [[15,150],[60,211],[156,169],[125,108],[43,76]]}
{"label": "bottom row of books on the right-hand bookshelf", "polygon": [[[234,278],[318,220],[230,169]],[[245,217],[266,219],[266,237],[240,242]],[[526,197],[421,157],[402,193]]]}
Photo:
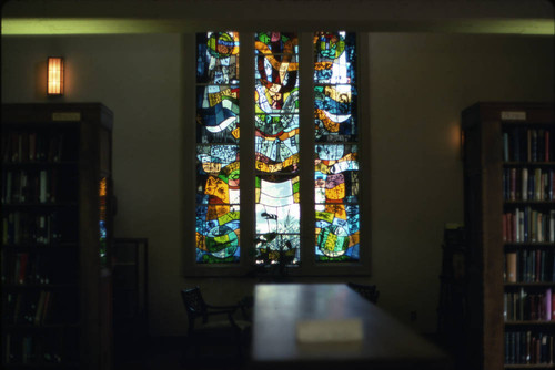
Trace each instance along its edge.
{"label": "bottom row of books on the right-hand bookshelf", "polygon": [[552,333],[531,330],[505,331],[505,363],[553,363],[553,347]]}

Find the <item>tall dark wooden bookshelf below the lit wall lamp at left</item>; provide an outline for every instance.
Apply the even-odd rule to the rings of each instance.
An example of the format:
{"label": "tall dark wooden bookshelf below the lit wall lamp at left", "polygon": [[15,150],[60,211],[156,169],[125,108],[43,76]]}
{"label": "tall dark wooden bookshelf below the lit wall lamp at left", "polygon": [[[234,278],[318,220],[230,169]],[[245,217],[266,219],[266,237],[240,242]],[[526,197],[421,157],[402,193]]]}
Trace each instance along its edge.
{"label": "tall dark wooden bookshelf below the lit wall lamp at left", "polygon": [[110,369],[112,112],[2,104],[2,369]]}

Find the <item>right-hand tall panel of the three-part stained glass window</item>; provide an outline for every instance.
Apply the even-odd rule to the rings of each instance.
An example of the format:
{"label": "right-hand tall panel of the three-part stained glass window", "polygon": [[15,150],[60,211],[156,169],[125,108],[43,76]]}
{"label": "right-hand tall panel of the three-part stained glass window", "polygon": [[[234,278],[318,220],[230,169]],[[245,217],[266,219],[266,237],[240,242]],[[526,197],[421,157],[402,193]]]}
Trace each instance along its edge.
{"label": "right-hand tall panel of the three-part stained glass window", "polygon": [[359,261],[355,34],[314,34],[315,258]]}

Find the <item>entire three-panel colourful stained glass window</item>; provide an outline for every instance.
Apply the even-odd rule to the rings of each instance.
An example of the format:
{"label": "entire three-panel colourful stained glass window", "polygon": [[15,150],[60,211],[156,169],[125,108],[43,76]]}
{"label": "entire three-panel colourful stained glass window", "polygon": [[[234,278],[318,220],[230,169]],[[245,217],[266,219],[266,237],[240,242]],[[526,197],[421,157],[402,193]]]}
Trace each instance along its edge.
{"label": "entire three-panel colourful stained glass window", "polygon": [[[361,258],[360,247],[356,34],[246,37],[241,43],[248,45],[242,55],[249,75],[240,81],[239,33],[196,34],[194,265],[363,271],[369,259],[364,253]],[[242,137],[240,85],[254,99],[254,105],[243,102]],[[301,112],[301,100],[306,111]],[[243,188],[240,153],[249,176]]]}

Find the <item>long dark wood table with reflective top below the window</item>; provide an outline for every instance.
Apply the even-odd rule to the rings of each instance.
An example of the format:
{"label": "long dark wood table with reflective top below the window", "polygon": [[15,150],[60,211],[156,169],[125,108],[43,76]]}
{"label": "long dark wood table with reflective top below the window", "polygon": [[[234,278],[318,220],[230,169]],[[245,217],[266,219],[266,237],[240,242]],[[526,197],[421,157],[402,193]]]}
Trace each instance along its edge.
{"label": "long dark wood table with reflective top below the window", "polygon": [[[360,319],[362,340],[306,343],[297,322]],[[453,369],[437,347],[341,284],[258,285],[252,369]]]}

